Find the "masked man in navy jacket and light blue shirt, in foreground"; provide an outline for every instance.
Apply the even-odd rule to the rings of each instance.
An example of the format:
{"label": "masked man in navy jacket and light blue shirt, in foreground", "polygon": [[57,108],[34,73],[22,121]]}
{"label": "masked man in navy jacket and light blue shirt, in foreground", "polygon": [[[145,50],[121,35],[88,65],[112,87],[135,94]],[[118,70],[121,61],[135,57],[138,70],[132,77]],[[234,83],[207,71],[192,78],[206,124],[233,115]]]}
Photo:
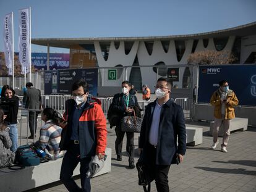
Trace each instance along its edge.
{"label": "masked man in navy jacket and light blue shirt, in foreground", "polygon": [[168,79],[158,79],[155,93],[157,99],[148,104],[142,122],[140,161],[150,167],[157,191],[164,192],[169,191],[168,172],[171,164],[183,161],[186,126],[182,107],[170,99],[171,83]]}

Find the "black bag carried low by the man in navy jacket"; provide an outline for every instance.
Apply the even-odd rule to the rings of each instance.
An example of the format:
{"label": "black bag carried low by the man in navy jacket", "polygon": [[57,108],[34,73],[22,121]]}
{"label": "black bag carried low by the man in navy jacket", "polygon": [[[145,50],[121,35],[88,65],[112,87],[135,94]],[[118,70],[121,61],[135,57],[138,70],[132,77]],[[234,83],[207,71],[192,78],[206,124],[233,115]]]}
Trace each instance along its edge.
{"label": "black bag carried low by the man in navy jacket", "polygon": [[[144,162],[137,162],[136,168],[138,170],[139,185],[143,186],[145,192],[150,192],[150,183],[153,181],[153,177],[150,174],[148,165]],[[148,188],[146,187],[147,185]]]}

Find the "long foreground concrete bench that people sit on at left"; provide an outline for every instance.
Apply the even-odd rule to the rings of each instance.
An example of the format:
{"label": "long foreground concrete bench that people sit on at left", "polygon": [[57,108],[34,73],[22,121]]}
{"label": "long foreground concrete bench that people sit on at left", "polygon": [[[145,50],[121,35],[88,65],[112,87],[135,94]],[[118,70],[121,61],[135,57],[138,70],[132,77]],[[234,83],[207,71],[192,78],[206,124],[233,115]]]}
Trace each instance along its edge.
{"label": "long foreground concrete bench that people sit on at left", "polygon": [[[96,176],[111,171],[111,148],[106,148],[108,155],[103,169]],[[38,186],[59,181],[62,158],[56,161],[49,161],[37,166],[25,167],[21,170],[10,170],[7,167],[0,169],[0,191],[25,191]],[[80,174],[80,164],[74,170],[75,175]]]}

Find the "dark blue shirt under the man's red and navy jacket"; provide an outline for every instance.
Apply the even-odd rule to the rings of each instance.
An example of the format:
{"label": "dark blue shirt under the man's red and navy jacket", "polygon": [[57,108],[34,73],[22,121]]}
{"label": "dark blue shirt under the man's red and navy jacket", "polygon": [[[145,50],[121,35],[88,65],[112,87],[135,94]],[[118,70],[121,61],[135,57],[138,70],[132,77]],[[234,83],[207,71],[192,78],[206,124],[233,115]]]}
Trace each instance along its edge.
{"label": "dark blue shirt under the man's red and navy jacket", "polygon": [[85,108],[85,103],[86,102],[83,102],[80,108],[77,107],[76,103],[74,105],[74,113],[73,113],[72,125],[71,125],[72,133],[71,133],[70,140],[79,140],[79,119],[83,113],[83,109]]}

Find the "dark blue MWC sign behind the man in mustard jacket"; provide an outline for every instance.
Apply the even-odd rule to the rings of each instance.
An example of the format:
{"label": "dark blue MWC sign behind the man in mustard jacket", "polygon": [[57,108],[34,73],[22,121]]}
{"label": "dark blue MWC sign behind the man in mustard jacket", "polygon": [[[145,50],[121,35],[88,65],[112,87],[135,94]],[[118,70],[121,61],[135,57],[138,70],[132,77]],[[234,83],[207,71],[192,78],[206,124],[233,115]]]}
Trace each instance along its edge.
{"label": "dark blue MWC sign behind the man in mustard jacket", "polygon": [[211,65],[199,67],[198,102],[210,102],[219,88],[219,81],[227,80],[236,93],[239,105],[256,106],[256,65]]}

